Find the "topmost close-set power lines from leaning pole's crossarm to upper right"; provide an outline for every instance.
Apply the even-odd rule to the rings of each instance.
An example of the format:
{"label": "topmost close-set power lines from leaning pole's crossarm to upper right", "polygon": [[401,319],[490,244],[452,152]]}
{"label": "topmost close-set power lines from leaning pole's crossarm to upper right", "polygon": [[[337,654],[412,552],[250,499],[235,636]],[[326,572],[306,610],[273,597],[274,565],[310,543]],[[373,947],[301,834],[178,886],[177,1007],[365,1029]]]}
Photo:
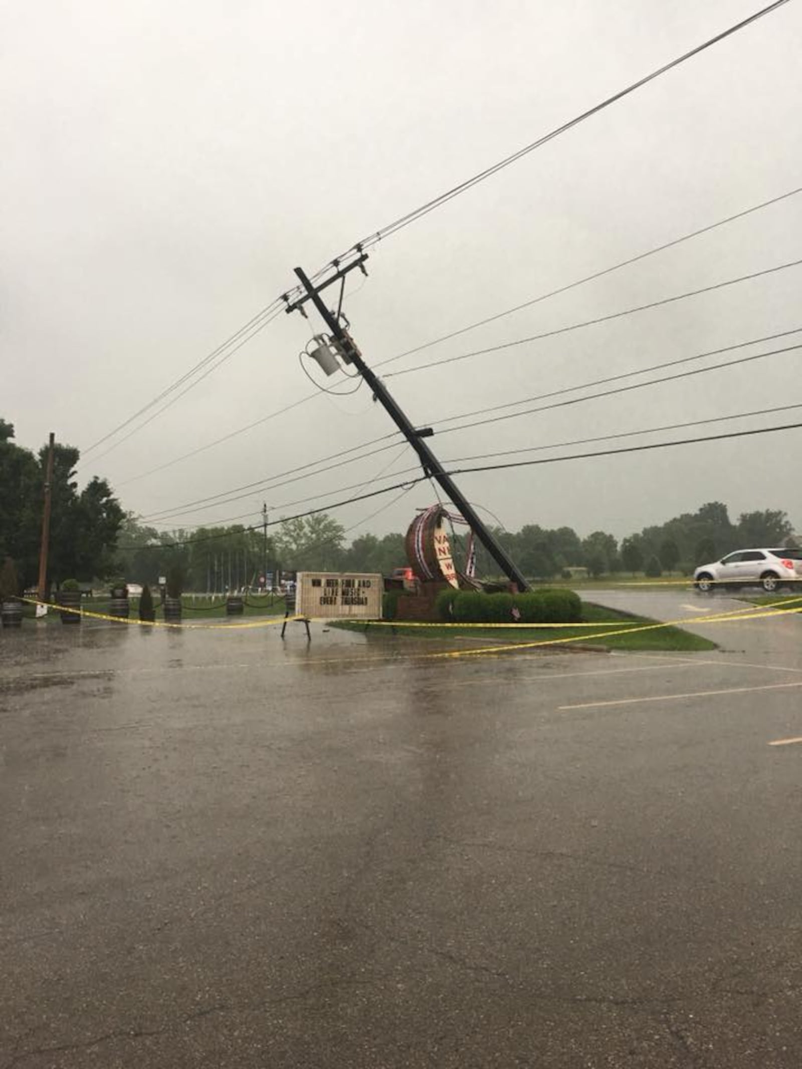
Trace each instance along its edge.
{"label": "topmost close-set power lines from leaning pole's crossarm to upper right", "polygon": [[510,165],[518,162],[518,160],[522,159],[524,156],[527,156],[536,149],[541,148],[549,141],[552,141],[554,138],[559,137],[559,135],[565,134],[567,130],[572,129],[574,126],[577,126],[585,120],[590,119],[592,115],[598,114],[600,111],[603,111],[611,105],[616,104],[618,100],[628,96],[630,93],[634,93],[636,90],[648,84],[650,81],[660,78],[662,75],[672,71],[674,67],[679,66],[681,63],[687,62],[694,56],[698,56],[707,48],[711,48],[713,45],[719,44],[726,37],[729,37],[732,34],[738,33],[740,30],[745,29],[752,22],[757,21],[765,15],[771,14],[772,12],[782,7],[787,2],[788,0],[776,0],[775,3],[771,3],[766,7],[761,7],[759,11],[755,12],[753,15],[750,15],[747,18],[742,19],[740,22],[736,22],[735,25],[728,27],[726,30],[723,30],[721,33],[716,33],[714,36],[709,37],[701,44],[696,45],[696,47],[690,49],[687,52],[683,52],[681,56],[678,56],[676,59],[670,60],[663,66],[658,67],[656,71],[652,71],[651,74],[648,74],[645,77],[639,78],[637,81],[630,83],[624,89],[621,89],[617,93],[614,93],[612,96],[606,97],[601,103],[595,105],[591,108],[588,108],[587,111],[583,111],[575,118],[569,120],[566,123],[562,123],[561,126],[557,126],[549,134],[544,134],[542,137],[539,137],[536,141],[533,141],[529,144],[524,145],[523,149],[519,149],[516,152],[512,153],[509,156],[506,156],[504,159],[498,160],[492,166],[487,167],[484,170],[479,171],[478,173],[472,175],[472,177],[466,179],[464,182],[461,182],[458,185],[452,186],[450,189],[447,189],[445,192],[439,193],[437,197],[433,197],[431,200],[420,204],[412,212],[407,212],[405,215],[402,215],[398,219],[395,219],[392,222],[383,227],[381,230],[374,231],[372,234],[368,235],[367,237],[364,237],[360,242],[357,242],[356,245],[353,245],[345,252],[341,253],[341,255],[336,258],[336,260],[330,261],[329,264],[326,265],[326,267],[322,268],[321,272],[319,272],[314,276],[314,278],[317,279],[318,277],[320,277],[320,275],[323,274],[325,270],[327,270],[330,265],[339,263],[339,261],[344,260],[354,252],[360,253],[364,249],[370,248],[370,246],[375,245],[384,237],[388,237],[390,234],[396,233],[397,231],[403,229],[404,227],[408,227],[410,223],[415,222],[417,219],[422,218],[425,215],[428,215],[430,212],[433,212],[435,208],[445,204],[447,201],[452,200],[454,197],[459,197],[461,193],[465,192],[467,189],[471,189],[473,186],[478,185],[480,182],[484,182],[487,179],[491,177],[494,174],[497,174],[499,171],[504,170]]}

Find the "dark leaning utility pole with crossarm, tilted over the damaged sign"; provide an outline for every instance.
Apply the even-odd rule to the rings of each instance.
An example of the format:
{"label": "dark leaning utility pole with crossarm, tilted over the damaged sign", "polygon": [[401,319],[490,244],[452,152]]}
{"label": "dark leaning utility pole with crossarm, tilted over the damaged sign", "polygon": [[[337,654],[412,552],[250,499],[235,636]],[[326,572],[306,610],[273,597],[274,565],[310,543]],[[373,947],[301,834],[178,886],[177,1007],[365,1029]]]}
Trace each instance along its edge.
{"label": "dark leaning utility pole with crossarm, tilted over the damaged sign", "polygon": [[[422,440],[423,438],[431,437],[433,433],[432,429],[429,427],[419,429],[415,428],[400,405],[388,392],[382,379],[370,370],[368,365],[363,359],[363,355],[354,344],[351,335],[340,325],[339,313],[338,315],[334,315],[321,299],[320,294],[322,290],[325,290],[327,286],[340,279],[342,279],[344,285],[345,275],[348,275],[348,273],[353,270],[355,267],[358,267],[363,274],[367,274],[364,267],[367,259],[367,254],[360,251],[359,255],[352,263],[342,267],[339,266],[339,264],[335,264],[337,268],[335,274],[329,276],[318,286],[314,286],[309,281],[300,267],[296,267],[295,274],[300,279],[307,295],[306,297],[299,297],[297,300],[292,303],[290,303],[289,298],[286,298],[287,311],[293,312],[295,309],[300,309],[302,313],[306,315],[303,306],[307,300],[312,301],[323,317],[326,326],[331,331],[331,337],[339,342],[339,347],[343,358],[346,362],[354,363],[356,366],[357,371],[373,391],[375,400],[381,402],[392,422],[399,431],[401,431],[412,448],[420,458],[425,475],[435,479],[439,483],[445,494],[457,506],[459,511],[462,513],[463,518],[467,522],[471,529],[491,555],[493,560],[502,569],[510,583],[514,584],[519,590],[528,590],[529,585],[524,578],[523,573],[507,555],[504,547],[493,537],[492,531],[484,526],[474,507],[461,493],[460,489],[457,486],[426,441]],[[342,289],[340,290],[340,301],[342,301]]]}

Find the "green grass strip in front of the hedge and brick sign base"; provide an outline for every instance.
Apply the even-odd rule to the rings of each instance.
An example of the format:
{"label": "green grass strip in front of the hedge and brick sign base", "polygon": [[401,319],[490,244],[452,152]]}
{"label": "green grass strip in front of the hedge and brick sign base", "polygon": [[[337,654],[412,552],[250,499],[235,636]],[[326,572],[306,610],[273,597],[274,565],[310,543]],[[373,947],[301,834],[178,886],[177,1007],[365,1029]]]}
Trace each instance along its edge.
{"label": "green grass strip in front of the hedge and brick sign base", "polygon": [[[567,624],[565,628],[537,628],[522,624],[516,628],[477,628],[459,624],[436,624],[429,628],[416,628],[395,624],[392,628],[373,625],[373,631],[388,631],[390,634],[414,635],[416,638],[454,638],[471,637],[493,639],[500,645],[513,642],[537,642],[537,641],[566,641],[571,639],[571,645],[582,645],[603,647],[608,650],[681,650],[684,652],[695,652],[701,650],[716,649],[715,642],[707,638],[694,635],[690,631],[681,628],[660,626],[651,631],[636,631],[638,626],[656,624],[657,620],[648,617],[632,616],[616,609],[607,608],[604,605],[596,605],[593,602],[583,602],[582,617],[584,623],[600,624],[596,628],[572,628]],[[604,624],[615,624],[615,626],[604,626]],[[361,620],[333,620],[330,626],[342,628],[345,631],[370,631],[370,623]],[[607,631],[618,631],[627,629],[629,633],[608,635]]]}

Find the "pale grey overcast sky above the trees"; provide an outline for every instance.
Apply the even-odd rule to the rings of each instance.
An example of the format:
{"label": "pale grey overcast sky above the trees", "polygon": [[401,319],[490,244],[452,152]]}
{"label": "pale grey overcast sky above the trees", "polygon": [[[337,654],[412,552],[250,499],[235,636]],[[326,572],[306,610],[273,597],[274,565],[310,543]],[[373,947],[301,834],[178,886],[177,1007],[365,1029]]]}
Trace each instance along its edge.
{"label": "pale grey overcast sky above the trees", "polygon": [[[126,421],[289,289],[296,265],[321,268],[759,6],[3,3],[0,415],[21,445],[38,448],[52,430],[79,447],[82,480],[108,478],[126,509],[165,528],[256,522],[263,501],[277,517],[400,482],[411,451],[375,441],[394,428],[367,388],[321,389],[355,384],[299,359],[321,325],[297,313],[223,348],[205,377],[218,358]],[[369,277],[349,276],[343,305],[366,359],[389,360],[802,186],[801,46],[802,4],[791,0],[379,243]],[[451,466],[802,422],[799,348],[461,431],[446,433],[460,420],[441,425],[714,350],[727,351],[685,367],[802,344],[800,332],[730,348],[802,331],[802,266],[431,366],[788,264],[802,258],[801,236],[802,193],[395,360],[387,385],[414,421],[435,427],[431,444]],[[587,392],[598,388],[560,399]],[[364,443],[374,444],[339,456]],[[453,463],[543,446],[553,448]],[[802,529],[801,453],[792,430],[461,484],[511,529],[622,536],[711,499],[732,515],[782,508]],[[303,480],[284,475],[353,456]],[[194,503],[229,491],[221,503]],[[399,530],[434,499],[426,483],[399,493],[336,515],[349,537]]]}

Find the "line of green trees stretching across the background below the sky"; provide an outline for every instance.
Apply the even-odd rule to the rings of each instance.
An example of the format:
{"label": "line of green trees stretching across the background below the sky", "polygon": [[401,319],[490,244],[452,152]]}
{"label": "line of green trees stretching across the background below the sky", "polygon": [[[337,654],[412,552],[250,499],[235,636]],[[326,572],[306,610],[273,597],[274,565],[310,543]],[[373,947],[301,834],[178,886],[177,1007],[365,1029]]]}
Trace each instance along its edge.
{"label": "line of green trees stretching across the background below the sky", "polygon": [[[13,558],[20,586],[31,587],[38,572],[47,447],[33,453],[13,439],[13,425],[0,419],[0,562]],[[74,447],[56,445],[48,564],[48,582],[56,587],[65,578],[92,583],[113,575],[152,585],[171,573],[185,589],[222,591],[259,585],[265,572],[276,577],[281,571],[304,570],[386,575],[406,563],[403,532],[366,533],[349,543],[343,525],[326,513],[272,524],[266,538],[259,526],[241,524],[159,531],[124,512],[105,479],[93,478],[78,491],[78,459]],[[744,512],[732,521],[721,501],[620,542],[606,531],[582,538],[571,527],[537,524],[519,531],[493,530],[525,575],[543,579],[577,569],[591,576],[644,570],[652,575],[690,573],[739,547],[796,544],[786,512]],[[462,531],[452,531],[458,567],[466,552]],[[495,577],[497,572],[477,546],[476,574]]]}

